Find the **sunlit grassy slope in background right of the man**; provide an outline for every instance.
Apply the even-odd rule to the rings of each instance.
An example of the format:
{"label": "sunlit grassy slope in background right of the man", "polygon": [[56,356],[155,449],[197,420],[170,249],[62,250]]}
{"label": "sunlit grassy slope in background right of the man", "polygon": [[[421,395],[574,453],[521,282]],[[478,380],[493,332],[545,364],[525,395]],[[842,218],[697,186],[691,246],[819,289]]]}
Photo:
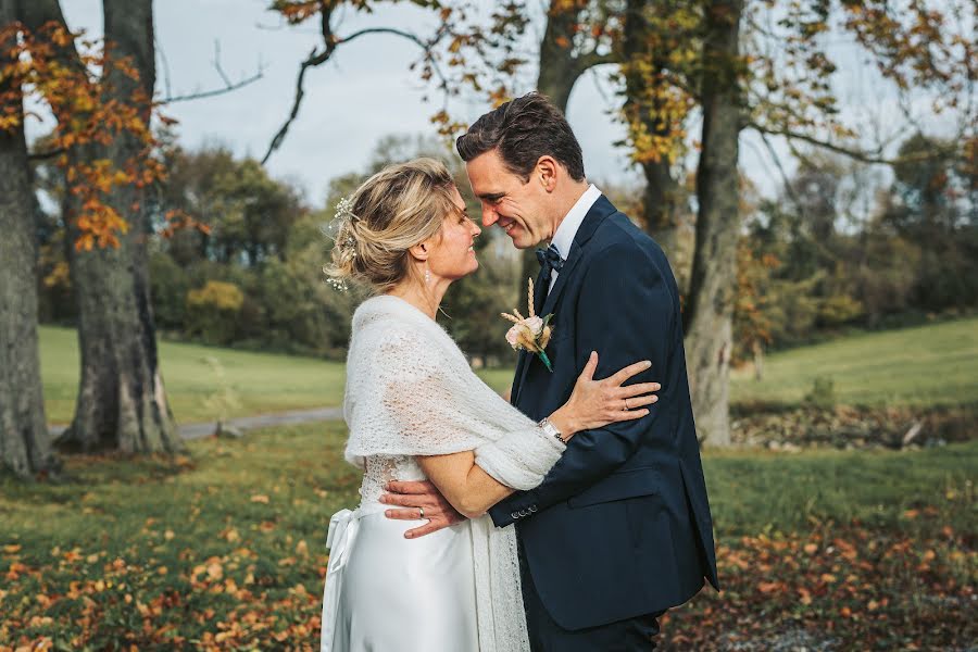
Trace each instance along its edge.
{"label": "sunlit grassy slope in background right of the man", "polygon": [[868,333],[770,355],[764,378],[734,373],[735,403],[799,403],[830,378],[850,405],[953,405],[978,401],[978,317]]}

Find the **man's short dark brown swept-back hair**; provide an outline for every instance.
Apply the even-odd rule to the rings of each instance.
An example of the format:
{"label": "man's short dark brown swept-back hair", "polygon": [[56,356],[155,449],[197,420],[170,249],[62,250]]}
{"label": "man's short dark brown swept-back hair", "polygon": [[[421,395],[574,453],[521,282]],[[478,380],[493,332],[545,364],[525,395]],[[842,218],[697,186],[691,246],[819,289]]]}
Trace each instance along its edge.
{"label": "man's short dark brown swept-back hair", "polygon": [[580,145],[561,110],[547,96],[530,92],[490,111],[455,141],[466,163],[493,149],[524,183],[540,156],[553,156],[576,181],[582,181]]}

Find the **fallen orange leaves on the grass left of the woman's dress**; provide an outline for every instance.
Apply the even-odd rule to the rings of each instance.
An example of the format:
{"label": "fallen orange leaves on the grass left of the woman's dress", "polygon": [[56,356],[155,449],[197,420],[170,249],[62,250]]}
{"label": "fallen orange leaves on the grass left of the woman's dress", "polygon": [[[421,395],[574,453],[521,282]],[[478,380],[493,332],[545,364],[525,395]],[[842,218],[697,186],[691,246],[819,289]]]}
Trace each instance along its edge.
{"label": "fallen orange leaves on the grass left of the woman's dress", "polygon": [[[152,521],[142,534],[162,535]],[[300,540],[287,556],[271,560],[235,527],[221,539],[235,546],[200,560],[186,540],[166,560],[149,551],[123,557],[80,548],[25,559],[21,544],[4,546],[0,651],[53,649],[55,642],[68,649],[301,649],[315,641],[325,555],[310,554]]]}

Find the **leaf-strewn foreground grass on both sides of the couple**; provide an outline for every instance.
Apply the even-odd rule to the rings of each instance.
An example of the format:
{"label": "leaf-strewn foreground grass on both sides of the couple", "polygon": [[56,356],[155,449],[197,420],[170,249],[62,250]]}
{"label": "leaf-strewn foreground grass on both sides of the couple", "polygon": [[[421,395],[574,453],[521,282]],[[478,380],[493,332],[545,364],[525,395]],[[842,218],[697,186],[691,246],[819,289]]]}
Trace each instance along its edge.
{"label": "leaf-strewn foreground grass on both sides of the couple", "polygon": [[[0,649],[314,648],[328,519],[358,500],[344,436],[276,428],[192,442],[177,464],[72,456],[62,484],[0,477]],[[836,649],[978,636],[978,441],[704,465],[725,591],[674,610],[666,649],[829,622]]]}

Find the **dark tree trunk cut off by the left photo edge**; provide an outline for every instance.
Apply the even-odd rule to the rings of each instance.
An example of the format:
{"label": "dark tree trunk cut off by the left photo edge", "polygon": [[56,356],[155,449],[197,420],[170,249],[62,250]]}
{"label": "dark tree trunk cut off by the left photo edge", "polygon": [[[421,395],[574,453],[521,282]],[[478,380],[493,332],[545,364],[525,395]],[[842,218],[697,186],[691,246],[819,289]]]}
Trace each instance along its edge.
{"label": "dark tree trunk cut off by the left photo edge", "polygon": [[[0,28],[16,20],[13,0],[0,0]],[[0,67],[11,63],[0,42]],[[35,198],[24,139],[18,82],[0,79],[0,96],[20,125],[0,129],[0,465],[22,477],[57,472],[45,417],[37,342]],[[4,106],[4,108],[8,108]]]}

